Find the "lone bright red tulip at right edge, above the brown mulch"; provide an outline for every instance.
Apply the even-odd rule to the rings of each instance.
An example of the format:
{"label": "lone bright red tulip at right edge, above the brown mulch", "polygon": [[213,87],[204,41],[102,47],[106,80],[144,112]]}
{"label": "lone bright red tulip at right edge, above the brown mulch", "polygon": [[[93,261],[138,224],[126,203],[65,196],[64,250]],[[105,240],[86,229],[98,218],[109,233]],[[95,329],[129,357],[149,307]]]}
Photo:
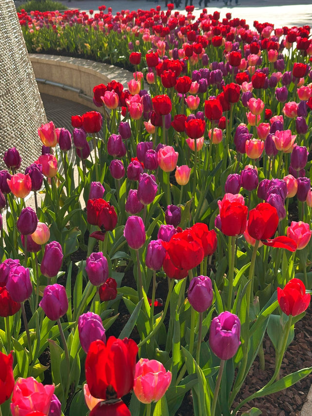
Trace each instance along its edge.
{"label": "lone bright red tulip at right edge, above the brown mulch", "polygon": [[306,294],[305,285],[300,279],[293,278],[284,289],[277,288],[277,300],[284,314],[296,317],[308,308],[311,295]]}

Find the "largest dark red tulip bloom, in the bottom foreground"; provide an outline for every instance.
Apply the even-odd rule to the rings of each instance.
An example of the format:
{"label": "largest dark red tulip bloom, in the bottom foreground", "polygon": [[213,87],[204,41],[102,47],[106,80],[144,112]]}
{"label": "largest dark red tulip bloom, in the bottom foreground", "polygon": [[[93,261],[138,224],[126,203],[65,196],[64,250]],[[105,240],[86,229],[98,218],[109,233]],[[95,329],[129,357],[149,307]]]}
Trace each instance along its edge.
{"label": "largest dark red tulip bloom, in the bottom foreground", "polygon": [[133,339],[109,337],[90,345],[85,372],[92,396],[119,398],[133,389],[137,360],[137,344]]}

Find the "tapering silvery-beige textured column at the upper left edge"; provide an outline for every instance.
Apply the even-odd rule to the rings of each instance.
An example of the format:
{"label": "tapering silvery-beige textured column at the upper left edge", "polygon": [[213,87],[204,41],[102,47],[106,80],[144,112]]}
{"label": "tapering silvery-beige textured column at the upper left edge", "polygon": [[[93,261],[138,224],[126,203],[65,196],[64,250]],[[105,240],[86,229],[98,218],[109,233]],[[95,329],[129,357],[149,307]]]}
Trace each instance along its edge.
{"label": "tapering silvery-beige textured column at the upper left edge", "polygon": [[0,169],[3,155],[15,146],[21,169],[37,160],[38,127],[46,122],[32,65],[13,0],[0,0]]}

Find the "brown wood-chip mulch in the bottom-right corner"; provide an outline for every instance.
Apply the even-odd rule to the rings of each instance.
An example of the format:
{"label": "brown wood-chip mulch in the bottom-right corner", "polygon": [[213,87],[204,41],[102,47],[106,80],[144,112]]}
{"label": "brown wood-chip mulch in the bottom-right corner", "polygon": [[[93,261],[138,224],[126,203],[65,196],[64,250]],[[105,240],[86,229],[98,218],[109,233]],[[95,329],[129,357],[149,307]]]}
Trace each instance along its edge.
{"label": "brown wood-chip mulch in the bottom-right corner", "polygon": [[[266,364],[265,371],[259,369],[259,360],[257,357],[246,377],[245,384],[236,397],[234,406],[242,399],[263,387],[273,375],[275,350],[268,336],[264,339],[263,348]],[[284,356],[280,378],[311,366],[312,307],[310,306],[305,317],[295,324],[294,339]],[[281,392],[254,399],[243,406],[241,410],[247,411],[252,407],[256,407],[262,411],[263,416],[299,416],[302,406],[307,399],[311,384],[312,374]]]}

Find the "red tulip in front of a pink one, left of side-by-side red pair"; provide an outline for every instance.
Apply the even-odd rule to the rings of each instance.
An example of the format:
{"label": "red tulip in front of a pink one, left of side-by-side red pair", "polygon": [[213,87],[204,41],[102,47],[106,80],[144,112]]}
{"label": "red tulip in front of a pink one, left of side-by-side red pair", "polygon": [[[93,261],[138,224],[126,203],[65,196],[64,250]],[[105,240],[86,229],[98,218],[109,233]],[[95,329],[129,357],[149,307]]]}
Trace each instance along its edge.
{"label": "red tulip in front of a pink one, left of side-by-side red pair", "polygon": [[248,208],[240,202],[225,200],[220,211],[221,231],[226,236],[243,234],[247,224]]}

